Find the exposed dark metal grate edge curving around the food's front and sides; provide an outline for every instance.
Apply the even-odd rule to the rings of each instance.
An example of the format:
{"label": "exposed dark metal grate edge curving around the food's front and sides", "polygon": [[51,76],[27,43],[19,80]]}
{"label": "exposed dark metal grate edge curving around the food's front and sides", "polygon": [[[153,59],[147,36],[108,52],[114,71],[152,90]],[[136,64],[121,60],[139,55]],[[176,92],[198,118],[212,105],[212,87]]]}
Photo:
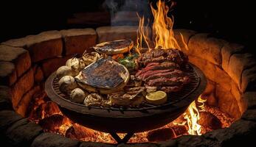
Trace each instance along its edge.
{"label": "exposed dark metal grate edge curving around the food's front and sides", "polygon": [[[169,107],[173,104],[176,104],[177,102],[183,100],[184,98],[187,98],[187,96],[190,96],[191,93],[193,93],[199,86],[200,84],[200,76],[194,71],[194,68],[192,65],[188,64],[184,68],[184,73],[190,77],[190,83],[185,85],[179,92],[176,93],[168,93],[168,98],[167,102],[162,105],[153,105],[153,104],[148,104],[146,101],[143,102],[139,107],[120,107],[120,106],[112,106],[112,107],[95,107],[91,106],[88,107],[89,109],[94,108],[94,109],[103,109],[103,110],[118,110],[120,112],[123,111],[146,111],[146,110],[151,110],[151,109],[162,109],[163,107]],[[52,82],[52,88],[55,90],[55,93],[60,97],[63,98],[65,101],[69,101],[69,96],[63,94],[59,90],[58,86],[58,78],[55,77],[53,82]],[[72,104],[77,104],[72,101],[69,101]],[[83,104],[77,104],[83,107],[86,107]]]}

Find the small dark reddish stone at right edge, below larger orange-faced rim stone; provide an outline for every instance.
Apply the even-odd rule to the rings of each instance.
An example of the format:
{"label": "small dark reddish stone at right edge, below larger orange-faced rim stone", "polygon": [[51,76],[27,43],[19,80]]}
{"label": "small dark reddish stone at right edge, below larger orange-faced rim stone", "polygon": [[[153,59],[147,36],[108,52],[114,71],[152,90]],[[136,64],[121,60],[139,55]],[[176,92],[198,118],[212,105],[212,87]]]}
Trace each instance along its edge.
{"label": "small dark reddish stone at right edge, below larger orange-faced rim stone", "polygon": [[246,69],[242,73],[241,91],[256,91],[256,67]]}

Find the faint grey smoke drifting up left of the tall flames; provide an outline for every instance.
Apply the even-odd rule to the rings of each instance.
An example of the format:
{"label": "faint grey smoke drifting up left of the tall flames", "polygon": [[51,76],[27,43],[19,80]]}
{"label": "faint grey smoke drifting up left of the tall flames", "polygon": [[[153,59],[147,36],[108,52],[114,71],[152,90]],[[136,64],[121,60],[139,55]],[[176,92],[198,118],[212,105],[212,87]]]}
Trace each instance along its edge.
{"label": "faint grey smoke drifting up left of the tall flames", "polygon": [[111,26],[116,25],[138,25],[139,15],[150,17],[151,10],[148,0],[105,0],[103,3],[111,14]]}

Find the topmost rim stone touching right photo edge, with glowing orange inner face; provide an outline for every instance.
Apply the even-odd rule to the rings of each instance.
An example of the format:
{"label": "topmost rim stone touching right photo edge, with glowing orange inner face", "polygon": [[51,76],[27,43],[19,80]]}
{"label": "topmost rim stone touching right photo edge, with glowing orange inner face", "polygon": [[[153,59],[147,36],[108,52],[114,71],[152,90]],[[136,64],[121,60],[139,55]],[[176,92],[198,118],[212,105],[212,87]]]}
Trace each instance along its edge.
{"label": "topmost rim stone touching right photo edge, with glowing orange inner face", "polygon": [[243,70],[252,68],[256,65],[255,57],[252,54],[233,54],[229,60],[229,67],[227,73],[238,84],[241,89],[241,76]]}

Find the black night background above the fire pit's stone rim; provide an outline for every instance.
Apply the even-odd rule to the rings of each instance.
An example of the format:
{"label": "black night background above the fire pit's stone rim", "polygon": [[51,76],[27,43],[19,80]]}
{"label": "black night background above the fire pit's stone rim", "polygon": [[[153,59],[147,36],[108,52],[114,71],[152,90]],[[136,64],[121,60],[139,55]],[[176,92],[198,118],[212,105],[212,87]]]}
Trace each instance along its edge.
{"label": "black night background above the fire pit's stone rim", "polygon": [[[1,1],[0,42],[52,29],[105,26],[106,24],[67,23],[68,18],[72,18],[76,12],[109,12],[110,10],[103,6],[104,1]],[[148,3],[147,0],[145,1]],[[156,0],[151,1],[154,3]],[[125,3],[125,1],[115,2],[119,4],[118,7]],[[242,43],[249,51],[255,52],[252,46],[255,32],[255,8],[252,3],[254,2],[176,0],[176,7],[171,12],[175,18],[174,28],[210,32],[226,40]],[[140,10],[140,14],[143,12],[148,14],[146,8]]]}

